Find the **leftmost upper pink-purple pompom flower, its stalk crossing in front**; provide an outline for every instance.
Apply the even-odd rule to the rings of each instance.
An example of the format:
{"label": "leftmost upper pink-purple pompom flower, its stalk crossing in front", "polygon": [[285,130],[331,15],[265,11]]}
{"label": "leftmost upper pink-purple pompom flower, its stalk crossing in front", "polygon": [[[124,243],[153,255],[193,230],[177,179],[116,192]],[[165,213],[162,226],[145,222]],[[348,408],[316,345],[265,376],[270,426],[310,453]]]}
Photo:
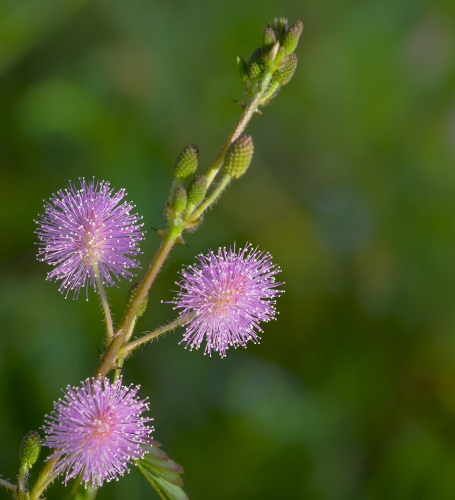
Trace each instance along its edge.
{"label": "leftmost upper pink-purple pompom flower, its stalk crossing in front", "polygon": [[134,205],[121,200],[121,189],[114,193],[109,183],[79,179],[80,189],[69,188],[44,202],[44,214],[35,220],[38,229],[38,259],[54,266],[48,280],[61,280],[59,290],[66,297],[74,290],[77,298],[82,287],[96,287],[97,269],[103,283],[116,286],[120,276],[130,279],[128,267],[139,267],[132,256],[140,253],[142,217],[130,214]]}

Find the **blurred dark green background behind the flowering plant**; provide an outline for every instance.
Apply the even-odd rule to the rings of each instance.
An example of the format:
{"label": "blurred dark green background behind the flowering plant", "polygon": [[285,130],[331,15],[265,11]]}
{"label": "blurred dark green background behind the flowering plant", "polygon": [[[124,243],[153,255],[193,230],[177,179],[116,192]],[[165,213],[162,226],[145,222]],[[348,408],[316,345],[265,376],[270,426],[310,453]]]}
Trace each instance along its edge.
{"label": "blurred dark green background behind the flowering plant", "polygon": [[[42,199],[95,175],[163,227],[175,156],[196,143],[210,163],[239,114],[236,56],[281,15],[305,25],[296,74],[253,118],[249,171],[173,250],[136,330],[173,319],[160,300],[182,263],[234,240],[280,263],[278,321],[222,360],[169,334],[125,380],[150,396],[154,437],[184,466],[191,500],[455,497],[449,0],[0,3],[4,478],[102,347],[95,294],[65,300],[35,259]],[[158,244],[150,231],[145,266]],[[109,291],[116,321],[128,287]],[[158,498],[137,470],[98,497]]]}

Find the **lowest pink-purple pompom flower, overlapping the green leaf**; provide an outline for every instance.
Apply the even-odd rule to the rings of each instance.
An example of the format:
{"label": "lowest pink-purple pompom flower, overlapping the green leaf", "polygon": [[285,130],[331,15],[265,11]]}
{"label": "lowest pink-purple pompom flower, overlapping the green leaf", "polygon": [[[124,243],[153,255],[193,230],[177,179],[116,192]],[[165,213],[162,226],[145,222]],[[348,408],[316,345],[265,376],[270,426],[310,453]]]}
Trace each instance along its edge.
{"label": "lowest pink-purple pompom flower, overlapping the green leaf", "polygon": [[42,427],[44,446],[54,448],[47,460],[56,458],[54,472],[66,471],[64,484],[82,474],[81,483],[101,486],[118,479],[127,464],[144,456],[152,419],[141,417],[149,409],[146,399],[135,397],[139,386],[122,386],[119,377],[87,379],[82,387],[67,386],[64,397]]}

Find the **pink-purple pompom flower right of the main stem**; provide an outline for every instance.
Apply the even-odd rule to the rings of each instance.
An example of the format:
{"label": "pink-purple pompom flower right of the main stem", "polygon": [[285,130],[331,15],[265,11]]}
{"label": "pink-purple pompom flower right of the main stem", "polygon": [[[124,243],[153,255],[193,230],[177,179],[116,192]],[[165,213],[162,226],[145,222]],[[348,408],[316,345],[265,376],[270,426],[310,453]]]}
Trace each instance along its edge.
{"label": "pink-purple pompom flower right of the main stem", "polygon": [[206,340],[205,353],[212,349],[221,357],[229,346],[246,347],[248,340],[258,343],[262,332],[258,323],[274,319],[275,297],[282,290],[275,287],[275,275],[280,272],[272,264],[271,255],[247,244],[236,252],[219,248],[218,253],[200,254],[199,262],[180,271],[177,296],[171,301],[181,309],[180,317],[192,311],[184,338],[190,348],[200,347]]}

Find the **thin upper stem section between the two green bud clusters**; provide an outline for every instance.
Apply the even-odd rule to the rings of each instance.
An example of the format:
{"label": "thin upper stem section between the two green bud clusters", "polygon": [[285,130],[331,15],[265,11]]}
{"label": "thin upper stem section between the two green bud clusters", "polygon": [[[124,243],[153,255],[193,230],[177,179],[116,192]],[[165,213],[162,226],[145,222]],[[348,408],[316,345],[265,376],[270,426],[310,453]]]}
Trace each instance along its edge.
{"label": "thin upper stem section between the two green bud clusters", "polygon": [[270,82],[270,79],[273,75],[272,71],[267,71],[264,73],[262,80],[259,82],[254,94],[251,96],[250,101],[248,104],[244,107],[242,114],[240,115],[239,119],[237,120],[237,123],[234,125],[234,128],[231,130],[231,133],[228,136],[228,139],[226,139],[225,143],[221,146],[221,149],[219,150],[218,154],[216,155],[216,158],[213,160],[212,164],[207,170],[207,173],[205,174],[207,177],[207,187],[209,187],[213,179],[215,178],[216,174],[219,172],[219,169],[221,168],[221,165],[223,163],[223,158],[224,155],[226,154],[226,151],[228,151],[228,148],[231,146],[231,144],[240,137],[242,132],[245,130],[246,126],[248,125],[248,122],[251,120],[251,117],[255,113],[260,100],[262,98],[262,95],[265,93],[265,89],[268,86],[268,83]]}

